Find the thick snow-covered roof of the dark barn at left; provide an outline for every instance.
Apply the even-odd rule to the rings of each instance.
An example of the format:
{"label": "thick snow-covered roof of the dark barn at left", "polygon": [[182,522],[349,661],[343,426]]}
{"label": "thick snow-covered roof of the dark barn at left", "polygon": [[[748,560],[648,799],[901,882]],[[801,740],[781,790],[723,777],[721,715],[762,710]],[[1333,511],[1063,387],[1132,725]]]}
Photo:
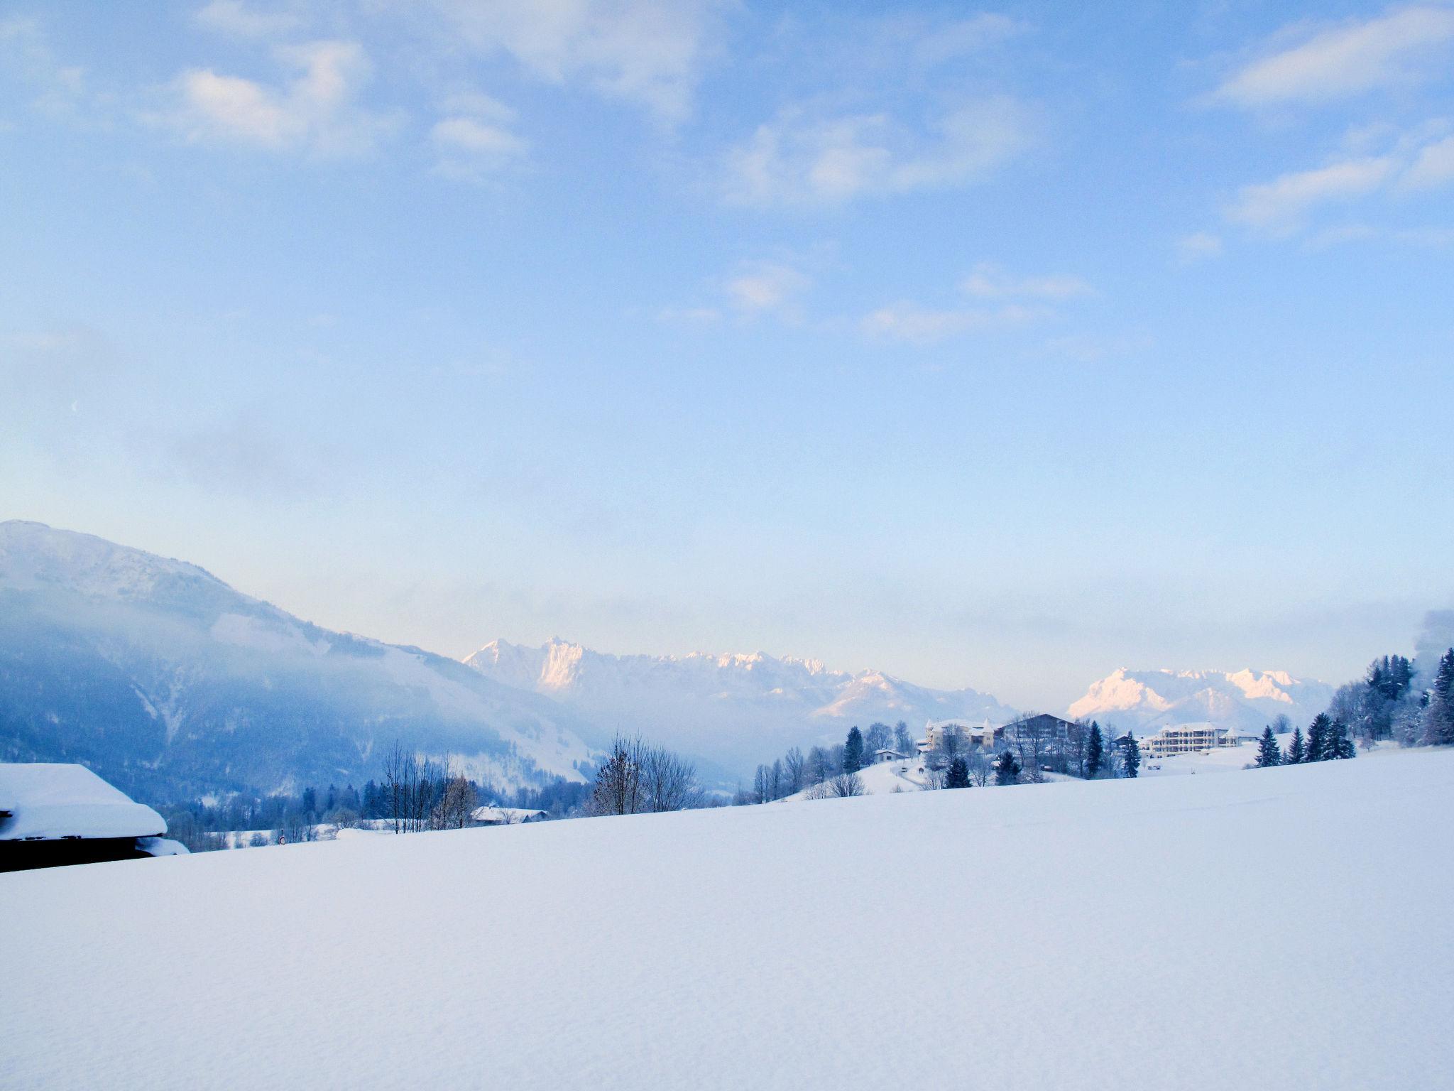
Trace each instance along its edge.
{"label": "thick snow-covered roof of the dark barn at left", "polygon": [[166,820],[84,765],[0,764],[0,841],[141,838]]}

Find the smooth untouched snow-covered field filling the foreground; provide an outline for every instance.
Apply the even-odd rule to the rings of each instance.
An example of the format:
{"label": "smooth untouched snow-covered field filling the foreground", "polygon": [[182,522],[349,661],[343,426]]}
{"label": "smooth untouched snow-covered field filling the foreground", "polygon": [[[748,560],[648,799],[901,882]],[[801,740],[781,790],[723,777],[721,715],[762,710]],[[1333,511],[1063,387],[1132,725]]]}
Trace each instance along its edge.
{"label": "smooth untouched snow-covered field filling the foreground", "polygon": [[0,876],[0,1087],[1448,1088],[1454,752]]}

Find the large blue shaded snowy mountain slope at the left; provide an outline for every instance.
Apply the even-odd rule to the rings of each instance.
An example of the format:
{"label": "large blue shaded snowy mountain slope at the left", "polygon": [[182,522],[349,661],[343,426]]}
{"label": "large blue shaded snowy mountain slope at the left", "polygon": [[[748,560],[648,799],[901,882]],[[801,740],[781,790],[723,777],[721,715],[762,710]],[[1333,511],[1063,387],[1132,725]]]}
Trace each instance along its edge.
{"label": "large blue shaded snowy mountain slope at the left", "polygon": [[0,524],[0,759],[80,761],[167,799],[362,784],[400,739],[512,784],[579,778],[574,726],[537,694],[308,624],[193,564]]}

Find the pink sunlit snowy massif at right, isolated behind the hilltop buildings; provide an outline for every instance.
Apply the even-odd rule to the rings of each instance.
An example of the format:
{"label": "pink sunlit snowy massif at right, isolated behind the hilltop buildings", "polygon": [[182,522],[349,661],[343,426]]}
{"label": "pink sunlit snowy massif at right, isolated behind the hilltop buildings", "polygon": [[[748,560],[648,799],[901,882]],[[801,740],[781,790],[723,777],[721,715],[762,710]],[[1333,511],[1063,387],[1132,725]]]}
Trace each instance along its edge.
{"label": "pink sunlit snowy massif at right, isolated behind the hilltop buildings", "polygon": [[1121,730],[1154,732],[1170,723],[1216,723],[1261,732],[1277,716],[1306,727],[1328,707],[1333,688],[1282,671],[1127,671],[1090,685],[1070,706],[1072,719]]}

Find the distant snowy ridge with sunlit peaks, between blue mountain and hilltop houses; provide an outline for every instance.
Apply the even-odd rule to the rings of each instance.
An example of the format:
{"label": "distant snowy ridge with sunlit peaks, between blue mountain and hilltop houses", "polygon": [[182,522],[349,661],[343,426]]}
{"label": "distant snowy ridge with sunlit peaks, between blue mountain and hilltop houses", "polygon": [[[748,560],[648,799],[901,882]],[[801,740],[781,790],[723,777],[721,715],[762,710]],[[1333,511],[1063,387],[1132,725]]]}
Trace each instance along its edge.
{"label": "distant snowy ridge with sunlit peaks, between blue mountain and hilltop houses", "polygon": [[929,690],[816,659],[752,655],[605,655],[551,640],[521,647],[494,640],[465,659],[506,685],[545,694],[606,730],[641,732],[734,772],[792,745],[842,740],[853,724],[1013,716],[976,690]]}

